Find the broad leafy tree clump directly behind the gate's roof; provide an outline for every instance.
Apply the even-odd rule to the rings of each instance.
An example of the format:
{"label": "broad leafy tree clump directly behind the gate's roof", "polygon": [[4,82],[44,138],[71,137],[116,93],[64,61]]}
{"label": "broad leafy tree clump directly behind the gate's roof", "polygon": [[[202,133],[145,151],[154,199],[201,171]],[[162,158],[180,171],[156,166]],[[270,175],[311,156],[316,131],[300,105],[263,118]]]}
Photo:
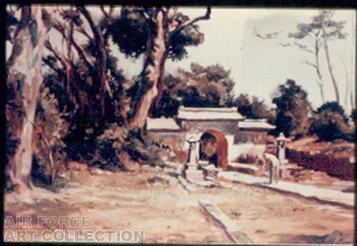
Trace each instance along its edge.
{"label": "broad leafy tree clump directly behind the gate's roof", "polygon": [[166,76],[163,96],[151,115],[175,116],[179,106],[223,107],[231,104],[234,81],[230,71],[220,65],[203,67],[191,64],[191,71],[178,70],[177,76]]}

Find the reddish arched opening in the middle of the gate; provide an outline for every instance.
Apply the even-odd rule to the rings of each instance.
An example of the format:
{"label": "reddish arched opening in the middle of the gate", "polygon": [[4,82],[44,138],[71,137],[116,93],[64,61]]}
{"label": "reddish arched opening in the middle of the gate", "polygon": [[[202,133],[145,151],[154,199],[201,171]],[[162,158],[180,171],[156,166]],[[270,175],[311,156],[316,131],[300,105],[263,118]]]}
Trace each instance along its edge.
{"label": "reddish arched opening in the middle of the gate", "polygon": [[209,160],[216,167],[226,170],[228,167],[228,143],[223,133],[218,130],[205,130],[200,139],[200,160]]}

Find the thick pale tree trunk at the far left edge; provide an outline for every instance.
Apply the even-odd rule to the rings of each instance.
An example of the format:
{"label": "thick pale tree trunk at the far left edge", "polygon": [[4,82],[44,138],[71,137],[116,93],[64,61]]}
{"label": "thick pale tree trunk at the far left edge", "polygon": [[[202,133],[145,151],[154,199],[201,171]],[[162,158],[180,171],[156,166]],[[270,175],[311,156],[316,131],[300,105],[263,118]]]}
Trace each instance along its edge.
{"label": "thick pale tree trunk at the far left edge", "polygon": [[[24,26],[22,26],[24,24]],[[14,37],[13,58],[8,67],[8,79],[16,74],[22,74],[24,87],[22,96],[22,125],[19,144],[14,159],[10,163],[9,175],[16,185],[17,191],[28,190],[31,182],[32,167],[32,138],[34,132],[34,118],[36,113],[39,89],[43,80],[41,58],[46,38],[46,25],[42,19],[40,6],[23,6],[21,10],[21,27]]]}

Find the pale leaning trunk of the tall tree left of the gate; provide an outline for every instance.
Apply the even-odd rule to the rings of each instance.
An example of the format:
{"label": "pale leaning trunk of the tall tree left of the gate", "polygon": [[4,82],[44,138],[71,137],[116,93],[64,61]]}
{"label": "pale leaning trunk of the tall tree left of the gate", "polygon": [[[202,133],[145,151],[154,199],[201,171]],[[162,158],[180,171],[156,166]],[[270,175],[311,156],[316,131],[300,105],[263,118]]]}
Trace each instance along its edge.
{"label": "pale leaning trunk of the tall tree left of the gate", "polygon": [[[164,69],[164,58],[166,53],[165,32],[164,32],[164,14],[159,11],[156,17],[156,34],[149,38],[148,51],[146,53],[144,76],[147,76],[149,88],[141,96],[139,103],[136,105],[136,112],[131,119],[132,128],[143,128],[148,116],[149,109],[154,99],[158,95],[159,83],[162,83],[161,73]],[[152,35],[152,34],[151,34]]]}

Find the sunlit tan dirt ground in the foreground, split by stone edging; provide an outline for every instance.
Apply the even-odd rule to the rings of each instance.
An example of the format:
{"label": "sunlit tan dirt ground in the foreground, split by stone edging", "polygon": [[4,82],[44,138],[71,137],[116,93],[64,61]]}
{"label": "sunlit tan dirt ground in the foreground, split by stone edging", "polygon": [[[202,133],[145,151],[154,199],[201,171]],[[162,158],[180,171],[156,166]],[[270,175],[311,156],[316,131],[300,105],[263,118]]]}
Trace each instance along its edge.
{"label": "sunlit tan dirt ground in the foreground, split by stone edging", "polygon": [[204,198],[216,203],[255,243],[319,242],[336,230],[343,235],[338,242],[353,242],[352,209],[236,183],[232,188],[198,187],[189,194],[179,183],[160,178],[164,175],[149,167],[96,175],[82,170],[56,193],[42,190],[46,196],[32,204],[15,203],[14,195],[6,193],[4,215],[29,215],[34,220],[90,216],[92,230],[144,230],[144,242],[231,243],[198,205]]}

